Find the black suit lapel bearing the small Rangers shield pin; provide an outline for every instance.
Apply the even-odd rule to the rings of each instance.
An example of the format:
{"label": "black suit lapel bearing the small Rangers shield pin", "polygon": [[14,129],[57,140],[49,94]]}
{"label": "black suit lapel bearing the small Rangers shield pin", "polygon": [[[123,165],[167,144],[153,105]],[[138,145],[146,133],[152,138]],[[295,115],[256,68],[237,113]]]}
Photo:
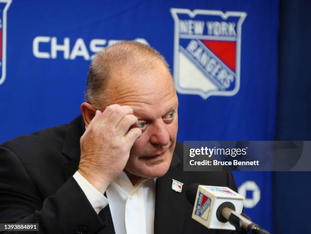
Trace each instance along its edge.
{"label": "black suit lapel bearing the small Rangers shield pin", "polygon": [[[154,234],[182,233],[182,223],[186,201],[187,179],[176,166],[180,163],[174,153],[168,172],[157,179],[155,185]],[[172,182],[177,180],[182,185],[181,192],[172,189]],[[180,224],[180,225],[177,225]]]}

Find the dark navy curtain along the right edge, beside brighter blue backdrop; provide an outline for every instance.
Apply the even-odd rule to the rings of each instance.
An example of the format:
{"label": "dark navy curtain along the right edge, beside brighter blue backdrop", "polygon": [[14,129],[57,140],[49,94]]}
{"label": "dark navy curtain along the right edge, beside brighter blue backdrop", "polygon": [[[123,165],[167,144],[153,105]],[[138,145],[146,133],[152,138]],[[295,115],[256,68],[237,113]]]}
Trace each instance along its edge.
{"label": "dark navy curtain along the right edge, beside brighter blue backdrop", "polygon": [[[280,6],[277,140],[311,140],[311,2]],[[310,172],[273,173],[275,233],[311,233]]]}

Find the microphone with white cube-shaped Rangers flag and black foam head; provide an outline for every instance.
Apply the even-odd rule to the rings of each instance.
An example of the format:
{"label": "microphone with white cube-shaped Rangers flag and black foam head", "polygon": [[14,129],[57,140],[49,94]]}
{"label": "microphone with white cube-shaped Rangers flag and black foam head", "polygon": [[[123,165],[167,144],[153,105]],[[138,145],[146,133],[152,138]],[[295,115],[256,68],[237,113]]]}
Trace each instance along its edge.
{"label": "microphone with white cube-shaped Rangers flag and black foam head", "polygon": [[194,206],[192,218],[208,228],[269,234],[242,213],[244,198],[228,187],[191,184],[186,198]]}

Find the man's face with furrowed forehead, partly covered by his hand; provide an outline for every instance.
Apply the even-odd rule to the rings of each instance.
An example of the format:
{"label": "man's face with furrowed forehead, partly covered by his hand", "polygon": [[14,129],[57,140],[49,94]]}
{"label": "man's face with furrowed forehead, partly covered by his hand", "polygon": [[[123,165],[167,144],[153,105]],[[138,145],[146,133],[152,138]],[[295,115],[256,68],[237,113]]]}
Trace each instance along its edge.
{"label": "man's face with furrowed forehead, partly covered by his hand", "polygon": [[[178,99],[172,77],[159,62],[142,74],[114,72],[108,84],[111,102],[130,105],[142,135],[135,141],[125,170],[139,177],[163,176],[169,169],[176,144]],[[112,80],[112,79],[111,79]]]}

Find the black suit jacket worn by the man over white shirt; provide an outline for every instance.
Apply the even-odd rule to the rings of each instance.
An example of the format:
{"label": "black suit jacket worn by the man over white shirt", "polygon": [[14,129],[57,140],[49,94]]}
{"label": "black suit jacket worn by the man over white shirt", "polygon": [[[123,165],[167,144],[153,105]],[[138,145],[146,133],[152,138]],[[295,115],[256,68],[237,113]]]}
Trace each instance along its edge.
{"label": "black suit jacket worn by the man over white shirt", "polygon": [[[69,125],[0,146],[0,223],[39,223],[39,232],[34,233],[114,233],[109,205],[98,215],[72,177],[78,169],[84,129],[79,116]],[[154,233],[229,233],[194,221],[185,191],[195,182],[236,190],[232,174],[183,172],[182,158],[183,146],[177,143],[168,172],[157,179]],[[171,189],[172,179],[184,183],[181,193]]]}

